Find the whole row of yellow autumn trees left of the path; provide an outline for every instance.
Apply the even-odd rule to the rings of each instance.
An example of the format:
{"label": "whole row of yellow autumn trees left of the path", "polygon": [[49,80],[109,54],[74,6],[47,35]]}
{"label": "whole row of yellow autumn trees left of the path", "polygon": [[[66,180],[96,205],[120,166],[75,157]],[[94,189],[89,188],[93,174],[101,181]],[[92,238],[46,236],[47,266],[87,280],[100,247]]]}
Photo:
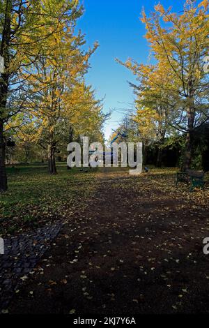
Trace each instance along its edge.
{"label": "whole row of yellow autumn trees left of the path", "polygon": [[72,137],[103,140],[102,103],[84,80],[98,44],[83,50],[82,14],[78,0],[0,1],[0,191],[14,148],[25,161],[47,154],[56,174],[56,154]]}

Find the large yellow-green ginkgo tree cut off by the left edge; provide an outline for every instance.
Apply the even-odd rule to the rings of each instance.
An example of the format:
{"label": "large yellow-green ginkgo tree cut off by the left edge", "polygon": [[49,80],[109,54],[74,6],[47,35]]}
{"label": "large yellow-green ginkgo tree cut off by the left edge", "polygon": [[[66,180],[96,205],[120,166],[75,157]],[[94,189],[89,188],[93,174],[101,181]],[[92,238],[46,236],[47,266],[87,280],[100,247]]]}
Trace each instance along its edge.
{"label": "large yellow-green ginkgo tree cut off by the left edge", "polygon": [[[26,79],[43,52],[47,39],[56,37],[69,17],[77,15],[77,0],[1,0],[0,55],[0,191],[7,189],[5,126],[25,108]],[[31,70],[32,71],[32,70]]]}

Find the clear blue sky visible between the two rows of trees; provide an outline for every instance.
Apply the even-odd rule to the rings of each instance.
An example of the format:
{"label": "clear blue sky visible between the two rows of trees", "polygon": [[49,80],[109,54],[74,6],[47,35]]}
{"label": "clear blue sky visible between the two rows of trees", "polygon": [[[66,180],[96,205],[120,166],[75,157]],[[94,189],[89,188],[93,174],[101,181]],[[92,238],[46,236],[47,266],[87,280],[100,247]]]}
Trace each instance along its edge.
{"label": "clear blue sky visible between the two rows of trees", "polygon": [[[115,59],[127,58],[147,63],[149,48],[144,38],[144,24],[139,17],[144,6],[146,12],[153,10],[159,1],[154,0],[84,0],[85,13],[78,27],[86,34],[86,46],[98,41],[100,47],[91,58],[91,69],[86,75],[98,98],[104,98],[104,112],[114,108],[130,108],[134,103],[133,91],[127,81],[134,82],[134,76],[127,68],[117,64]],[[166,8],[183,8],[183,0],[160,1]],[[123,116],[113,112],[104,127],[106,138],[111,129],[118,126]]]}

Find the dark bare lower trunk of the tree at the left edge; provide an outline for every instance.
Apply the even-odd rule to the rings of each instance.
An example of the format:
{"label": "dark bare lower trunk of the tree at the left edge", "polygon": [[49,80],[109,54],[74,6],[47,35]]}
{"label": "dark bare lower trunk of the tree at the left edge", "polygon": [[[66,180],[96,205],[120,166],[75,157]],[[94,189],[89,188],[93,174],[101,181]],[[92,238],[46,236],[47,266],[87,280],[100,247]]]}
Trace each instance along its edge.
{"label": "dark bare lower trunk of the tree at the left edge", "polygon": [[3,120],[0,121],[0,191],[7,190],[5,166],[5,142],[3,140]]}

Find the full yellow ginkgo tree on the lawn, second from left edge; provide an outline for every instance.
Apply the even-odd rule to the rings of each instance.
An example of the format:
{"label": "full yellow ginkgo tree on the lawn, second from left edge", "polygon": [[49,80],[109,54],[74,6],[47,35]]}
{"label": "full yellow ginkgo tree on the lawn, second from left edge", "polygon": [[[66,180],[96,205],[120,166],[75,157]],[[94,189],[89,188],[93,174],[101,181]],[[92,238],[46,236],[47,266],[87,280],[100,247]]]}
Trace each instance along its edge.
{"label": "full yellow ginkgo tree on the lawn, second from left edge", "polygon": [[[59,6],[54,10],[59,13]],[[50,174],[56,174],[56,151],[59,150],[66,121],[73,124],[77,119],[84,122],[85,118],[91,126],[88,102],[92,101],[92,95],[84,86],[84,74],[98,44],[95,43],[86,52],[82,50],[84,36],[75,34],[80,15],[82,8],[77,8],[72,17],[66,18],[59,32],[47,38],[40,58],[31,70],[23,73],[29,94],[24,107],[32,114],[33,124],[36,124],[36,142],[47,149]],[[79,107],[86,96],[86,104]]]}

